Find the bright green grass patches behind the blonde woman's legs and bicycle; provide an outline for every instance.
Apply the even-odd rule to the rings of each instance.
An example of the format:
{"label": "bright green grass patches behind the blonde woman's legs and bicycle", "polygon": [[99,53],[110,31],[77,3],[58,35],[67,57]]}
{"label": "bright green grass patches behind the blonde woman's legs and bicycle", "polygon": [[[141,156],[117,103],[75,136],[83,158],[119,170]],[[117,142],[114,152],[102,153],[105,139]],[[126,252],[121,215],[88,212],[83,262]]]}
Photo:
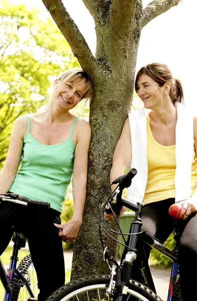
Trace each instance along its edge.
{"label": "bright green grass patches behind the blonde woman's legs and bicycle", "polygon": [[[6,248],[6,250],[3,252],[3,254],[0,256],[0,259],[1,259],[1,261],[4,265],[4,267],[5,267],[5,270],[7,270],[8,266],[9,266],[11,252],[12,252],[12,247],[8,246]],[[22,250],[22,249],[19,250],[18,264],[22,260],[22,258],[24,256],[28,255],[28,254],[29,254],[28,250]],[[69,282],[69,279],[70,279],[70,270],[66,269],[65,270],[65,283]],[[0,301],[3,301],[3,298],[4,298],[4,288],[3,288],[2,284],[1,284],[1,281],[0,281]]]}

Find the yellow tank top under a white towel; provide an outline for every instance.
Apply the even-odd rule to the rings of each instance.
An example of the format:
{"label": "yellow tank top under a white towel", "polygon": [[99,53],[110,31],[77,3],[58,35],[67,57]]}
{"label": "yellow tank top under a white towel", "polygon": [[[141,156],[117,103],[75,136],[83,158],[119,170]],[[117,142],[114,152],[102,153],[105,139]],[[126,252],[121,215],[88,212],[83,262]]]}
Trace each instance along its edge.
{"label": "yellow tank top under a white towel", "polygon": [[[175,197],[175,145],[164,146],[157,143],[152,135],[148,116],[146,124],[148,177],[143,205]],[[196,183],[196,155],[193,147],[191,195],[195,189]]]}

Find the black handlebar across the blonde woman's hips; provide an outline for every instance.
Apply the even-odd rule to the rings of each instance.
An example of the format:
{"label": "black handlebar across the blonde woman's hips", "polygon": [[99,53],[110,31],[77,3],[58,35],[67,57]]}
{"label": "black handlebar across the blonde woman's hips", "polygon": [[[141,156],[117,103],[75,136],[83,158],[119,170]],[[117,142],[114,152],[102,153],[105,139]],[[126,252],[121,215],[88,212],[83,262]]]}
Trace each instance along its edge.
{"label": "black handlebar across the blonde woman's hips", "polygon": [[22,202],[26,203],[26,204],[22,204],[22,205],[37,206],[40,209],[41,208],[45,208],[45,209],[50,208],[50,203],[48,203],[48,202],[31,200],[24,196],[17,195],[15,193],[0,194],[0,201],[3,201],[3,202],[8,201],[8,202],[14,202],[14,203],[17,203],[17,201],[19,201],[18,202],[19,204],[22,204]]}

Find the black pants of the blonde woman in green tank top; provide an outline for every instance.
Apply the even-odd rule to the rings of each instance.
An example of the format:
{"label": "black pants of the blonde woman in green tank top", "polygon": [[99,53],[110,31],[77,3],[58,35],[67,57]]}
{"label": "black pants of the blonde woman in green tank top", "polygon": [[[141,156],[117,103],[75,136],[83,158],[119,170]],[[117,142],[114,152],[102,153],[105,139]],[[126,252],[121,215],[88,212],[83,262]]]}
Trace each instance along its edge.
{"label": "black pants of the blonde woman in green tank top", "polygon": [[28,208],[14,203],[0,204],[0,255],[6,249],[16,227],[28,239],[29,251],[40,290],[38,300],[44,301],[64,284],[64,258],[58,229],[60,213],[56,210]]}

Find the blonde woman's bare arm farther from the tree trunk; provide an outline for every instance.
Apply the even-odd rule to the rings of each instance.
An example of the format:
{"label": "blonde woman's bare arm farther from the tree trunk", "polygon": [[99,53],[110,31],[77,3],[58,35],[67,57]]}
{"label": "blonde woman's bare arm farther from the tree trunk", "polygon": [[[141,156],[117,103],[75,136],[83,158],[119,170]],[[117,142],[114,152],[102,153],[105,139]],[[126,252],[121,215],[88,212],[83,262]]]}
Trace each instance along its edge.
{"label": "blonde woman's bare arm farther from the tree trunk", "polygon": [[0,171],[0,193],[7,193],[15,179],[22,155],[25,132],[26,116],[20,116],[13,123],[5,164]]}

